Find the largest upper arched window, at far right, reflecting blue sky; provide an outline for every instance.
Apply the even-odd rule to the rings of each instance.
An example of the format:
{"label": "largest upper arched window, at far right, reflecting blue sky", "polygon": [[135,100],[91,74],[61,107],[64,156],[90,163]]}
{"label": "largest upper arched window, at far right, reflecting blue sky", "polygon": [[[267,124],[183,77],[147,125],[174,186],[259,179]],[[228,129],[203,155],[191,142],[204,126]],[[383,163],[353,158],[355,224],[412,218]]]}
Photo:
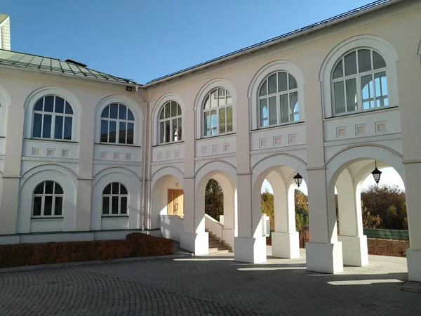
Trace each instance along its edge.
{"label": "largest upper arched window, at far right, reflecting blue sky", "polygon": [[386,62],[373,49],[347,53],[333,67],[332,86],[335,114],[387,107]]}

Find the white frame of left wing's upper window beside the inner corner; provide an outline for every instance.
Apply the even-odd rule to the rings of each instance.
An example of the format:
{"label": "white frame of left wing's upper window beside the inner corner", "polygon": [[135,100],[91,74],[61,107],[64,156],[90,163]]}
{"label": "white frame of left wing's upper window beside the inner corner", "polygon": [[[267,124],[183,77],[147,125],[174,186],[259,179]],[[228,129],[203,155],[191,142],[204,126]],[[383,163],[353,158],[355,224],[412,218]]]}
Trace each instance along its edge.
{"label": "white frame of left wing's upper window beside the inner corner", "polygon": [[[116,119],[110,117],[110,114],[111,114],[111,105],[114,105],[114,104],[117,105],[117,118]],[[120,116],[119,115],[120,114],[120,105],[122,105],[123,107],[126,107],[126,119],[119,119],[119,116]],[[105,110],[108,110],[108,116],[109,117],[102,117],[102,113]],[[128,110],[130,110],[131,114],[133,115],[133,120],[129,120],[128,119]],[[102,121],[107,121],[107,124],[108,124],[108,129],[107,129],[107,131],[108,131],[107,132],[107,142],[104,142],[104,141],[101,140],[101,136],[102,136],[102,133],[101,133],[101,131],[102,131],[102,129],[101,129],[102,128]],[[116,142],[115,143],[109,142],[109,122],[110,121],[115,121],[116,122]],[[126,143],[119,143],[120,142],[120,123],[126,123]],[[127,131],[128,131],[127,125],[128,125],[128,123],[133,124],[133,143],[132,144],[128,144],[127,143],[127,136],[128,136],[128,133],[127,133]],[[100,144],[134,146],[135,143],[136,143],[135,135],[136,135],[136,117],[135,117],[135,114],[133,113],[133,111],[131,110],[130,107],[128,107],[124,103],[116,102],[116,103],[109,103],[109,105],[106,105],[101,110],[101,113],[100,113]]]}

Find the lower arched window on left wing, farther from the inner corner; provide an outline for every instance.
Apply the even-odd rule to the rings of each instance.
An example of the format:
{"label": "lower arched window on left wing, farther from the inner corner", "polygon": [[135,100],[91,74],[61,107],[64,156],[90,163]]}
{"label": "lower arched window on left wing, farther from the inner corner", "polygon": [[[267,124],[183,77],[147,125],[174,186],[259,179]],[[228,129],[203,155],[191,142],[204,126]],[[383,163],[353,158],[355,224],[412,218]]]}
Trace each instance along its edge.
{"label": "lower arched window on left wing, farther from the inner corner", "polygon": [[51,180],[39,183],[32,195],[32,217],[61,217],[64,196],[58,183]]}

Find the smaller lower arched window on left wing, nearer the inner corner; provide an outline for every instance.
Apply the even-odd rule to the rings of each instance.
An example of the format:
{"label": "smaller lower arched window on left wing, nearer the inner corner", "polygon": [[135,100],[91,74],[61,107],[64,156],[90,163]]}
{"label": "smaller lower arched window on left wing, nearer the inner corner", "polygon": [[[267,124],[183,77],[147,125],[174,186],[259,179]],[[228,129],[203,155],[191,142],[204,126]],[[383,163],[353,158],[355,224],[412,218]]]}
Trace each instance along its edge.
{"label": "smaller lower arched window on left wing, nearer the inner corner", "polygon": [[102,192],[102,216],[127,215],[128,192],[118,182],[109,183]]}

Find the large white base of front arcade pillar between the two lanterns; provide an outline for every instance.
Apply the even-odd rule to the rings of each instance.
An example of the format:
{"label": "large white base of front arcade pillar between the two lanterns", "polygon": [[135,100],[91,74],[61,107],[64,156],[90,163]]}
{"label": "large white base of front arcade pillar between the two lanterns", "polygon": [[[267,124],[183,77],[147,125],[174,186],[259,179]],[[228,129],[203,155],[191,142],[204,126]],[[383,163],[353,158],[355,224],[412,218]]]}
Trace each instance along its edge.
{"label": "large white base of front arcade pillar between the two lanterns", "polygon": [[335,274],[344,270],[341,242],[306,242],[305,256],[309,271]]}

